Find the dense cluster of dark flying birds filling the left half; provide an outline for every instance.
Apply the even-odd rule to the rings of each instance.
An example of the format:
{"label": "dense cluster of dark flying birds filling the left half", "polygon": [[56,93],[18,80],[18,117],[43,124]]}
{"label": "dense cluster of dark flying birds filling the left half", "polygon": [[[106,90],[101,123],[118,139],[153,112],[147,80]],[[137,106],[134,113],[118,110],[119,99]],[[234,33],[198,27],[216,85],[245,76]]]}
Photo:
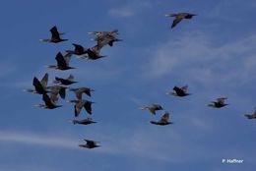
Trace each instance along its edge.
{"label": "dense cluster of dark flying birds filling the left half", "polygon": [[[62,35],[64,33],[60,33],[56,26],[53,28],[50,28],[51,32],[51,38],[47,39],[40,39],[42,42],[47,43],[59,43],[63,41],[67,41],[68,39],[62,38]],[[91,31],[90,34],[95,34],[96,37],[93,39],[96,41],[96,45],[92,48],[86,48],[83,47],[80,44],[73,43],[74,46],[73,50],[66,50],[66,53],[63,55],[61,52],[58,52],[56,54],[55,60],[57,62],[56,65],[48,65],[47,68],[49,69],[55,69],[55,70],[71,70],[75,69],[74,67],[70,66],[70,60],[73,55],[76,55],[80,59],[86,59],[86,60],[97,60],[106,56],[100,55],[100,50],[105,45],[113,46],[113,43],[115,41],[122,41],[121,39],[117,38],[118,30],[114,29],[112,31]],[[67,102],[75,103],[74,110],[75,110],[75,117],[78,117],[81,113],[81,110],[85,108],[86,112],[89,115],[92,115],[92,105],[95,103],[93,101],[87,100],[83,98],[83,94],[87,94],[88,96],[91,96],[91,92],[95,91],[94,89],[90,87],[76,87],[71,88],[66,85],[73,85],[78,83],[75,81],[75,78],[73,75],[69,75],[68,78],[58,78],[55,77],[55,80],[53,81],[53,84],[48,86],[48,74],[46,73],[43,78],[39,81],[36,77],[32,80],[32,85],[34,86],[33,89],[26,89],[28,92],[41,94],[43,104],[36,104],[35,107],[45,108],[45,109],[55,109],[58,107],[61,107],[61,105],[58,105],[58,98],[59,96],[62,99],[65,99],[66,97],[66,91],[73,91],[76,95],[77,99],[68,100]],[[90,125],[96,123],[92,118],[88,117],[86,119],[77,120],[74,119],[71,121],[73,124],[82,124],[82,125]],[[91,141],[91,140],[85,140],[85,144],[79,144],[79,146],[87,147],[87,148],[94,148],[99,146],[97,142]]]}

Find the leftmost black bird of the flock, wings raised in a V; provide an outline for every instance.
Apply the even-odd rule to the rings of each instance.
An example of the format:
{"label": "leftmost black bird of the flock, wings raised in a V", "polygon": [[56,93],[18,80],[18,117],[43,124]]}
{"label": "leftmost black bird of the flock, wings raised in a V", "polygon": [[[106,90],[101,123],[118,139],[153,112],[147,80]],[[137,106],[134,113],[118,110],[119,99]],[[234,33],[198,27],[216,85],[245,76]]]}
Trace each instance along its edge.
{"label": "leftmost black bird of the flock, wings raised in a V", "polygon": [[48,92],[46,90],[47,84],[48,84],[48,74],[46,73],[41,79],[41,81],[38,81],[36,77],[33,78],[32,85],[34,86],[34,89],[25,89],[25,90],[27,92],[38,93],[38,94],[47,93]]}

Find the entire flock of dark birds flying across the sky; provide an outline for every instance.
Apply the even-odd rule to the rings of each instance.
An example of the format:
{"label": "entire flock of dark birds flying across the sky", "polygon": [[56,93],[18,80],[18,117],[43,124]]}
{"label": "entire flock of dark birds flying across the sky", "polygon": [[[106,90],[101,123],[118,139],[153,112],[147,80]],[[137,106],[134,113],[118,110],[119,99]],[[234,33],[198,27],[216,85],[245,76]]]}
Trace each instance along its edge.
{"label": "entire flock of dark birds flying across the sky", "polygon": [[[197,16],[195,14],[190,13],[177,13],[177,14],[167,14],[166,17],[174,17],[173,23],[171,25],[171,28],[174,28],[184,19],[192,19],[194,16]],[[64,33],[60,33],[57,29],[57,27],[50,28],[51,32],[51,38],[48,39],[40,39],[42,42],[47,43],[59,43],[63,41],[67,41],[68,39],[62,38]],[[95,34],[96,37],[93,39],[96,41],[96,45],[92,48],[86,48],[83,47],[80,44],[73,43],[74,50],[66,50],[65,55],[61,52],[58,52],[55,60],[57,62],[56,65],[48,65],[47,68],[49,69],[56,69],[56,70],[70,70],[75,69],[74,67],[70,67],[69,63],[73,55],[76,55],[80,59],[86,59],[86,60],[97,60],[103,57],[106,57],[104,55],[100,55],[100,50],[105,45],[113,46],[113,43],[116,41],[122,41],[122,39],[117,38],[118,30],[114,29],[112,31],[91,31],[90,34]],[[81,113],[81,110],[85,108],[87,113],[89,115],[92,115],[92,105],[95,103],[90,100],[83,99],[83,93],[87,94],[88,96],[91,96],[91,92],[94,91],[94,89],[90,87],[76,87],[76,88],[70,88],[65,85],[73,85],[78,82],[75,81],[74,76],[70,75],[68,78],[58,78],[55,77],[55,81],[53,81],[53,84],[48,86],[48,74],[46,73],[43,78],[39,81],[36,77],[33,78],[32,85],[34,86],[34,89],[26,89],[28,92],[41,94],[42,100],[44,104],[37,104],[34,105],[36,107],[46,108],[46,109],[55,109],[58,107],[61,107],[61,105],[57,104],[59,96],[62,99],[65,99],[66,97],[66,91],[73,91],[77,97],[75,100],[69,100],[67,102],[75,103],[74,110],[75,110],[75,117],[78,117]],[[188,85],[184,85],[182,87],[174,86],[173,91],[166,92],[166,94],[184,97],[187,95],[190,95],[188,91]],[[210,104],[207,104],[209,107],[214,108],[222,108],[228,104],[225,103],[226,97],[220,97],[217,98],[216,101],[212,101]],[[149,110],[152,114],[156,115],[156,111],[163,110],[163,107],[160,104],[152,104],[150,106],[145,106],[141,108],[142,110]],[[245,114],[245,117],[248,119],[256,119],[256,108],[254,113],[252,114]],[[73,124],[82,124],[82,125],[90,125],[96,123],[93,119],[90,117],[83,119],[83,120],[72,120]],[[160,117],[159,121],[151,121],[151,124],[154,125],[160,125],[160,126],[166,126],[169,124],[172,124],[172,122],[169,121],[169,113],[167,111],[164,111],[162,116]],[[86,148],[95,148],[100,145],[98,145],[98,142],[91,141],[91,140],[85,140],[86,143],[79,144],[81,147]]]}

